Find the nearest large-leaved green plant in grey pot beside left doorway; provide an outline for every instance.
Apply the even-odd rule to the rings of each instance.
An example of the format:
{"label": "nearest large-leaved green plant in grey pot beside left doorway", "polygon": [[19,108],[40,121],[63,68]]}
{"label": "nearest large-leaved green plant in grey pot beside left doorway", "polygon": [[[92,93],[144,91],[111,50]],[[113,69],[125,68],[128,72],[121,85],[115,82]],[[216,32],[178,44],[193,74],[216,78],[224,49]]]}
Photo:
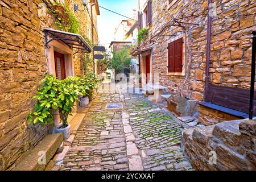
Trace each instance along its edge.
{"label": "nearest large-leaved green plant in grey pot beside left doorway", "polygon": [[56,125],[53,133],[63,133],[64,139],[68,139],[71,126],[68,124],[68,115],[72,114],[72,107],[80,95],[79,86],[75,77],[65,80],[57,80],[55,76],[46,75],[42,80],[42,86],[33,97],[38,100],[35,110],[28,115],[30,123],[53,123],[51,110],[59,111],[60,125]]}

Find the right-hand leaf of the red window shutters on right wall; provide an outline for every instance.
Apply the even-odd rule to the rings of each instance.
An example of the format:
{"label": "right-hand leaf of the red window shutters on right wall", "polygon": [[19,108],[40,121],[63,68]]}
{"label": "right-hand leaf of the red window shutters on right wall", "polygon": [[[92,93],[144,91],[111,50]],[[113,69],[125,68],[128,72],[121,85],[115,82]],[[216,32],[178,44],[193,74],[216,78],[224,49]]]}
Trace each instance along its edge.
{"label": "right-hand leaf of the red window shutters on right wall", "polygon": [[182,63],[182,49],[183,49],[182,47],[183,46],[182,46],[182,44],[183,44],[183,38],[175,40],[175,46],[174,46],[175,72],[182,72],[182,67],[183,67],[183,63]]}

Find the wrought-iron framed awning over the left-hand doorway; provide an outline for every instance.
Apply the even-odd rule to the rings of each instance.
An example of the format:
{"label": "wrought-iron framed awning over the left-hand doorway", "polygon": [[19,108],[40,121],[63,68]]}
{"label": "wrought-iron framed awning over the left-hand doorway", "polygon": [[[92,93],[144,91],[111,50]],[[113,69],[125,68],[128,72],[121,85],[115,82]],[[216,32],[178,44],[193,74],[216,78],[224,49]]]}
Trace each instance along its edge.
{"label": "wrought-iron framed awning over the left-hand doorway", "polygon": [[75,52],[74,55],[76,53],[92,52],[92,48],[88,45],[88,43],[85,42],[85,40],[79,34],[72,34],[69,32],[54,30],[51,28],[44,28],[44,39],[47,48],[51,48],[49,43],[53,40],[60,40],[71,49],[79,49],[79,51]]}

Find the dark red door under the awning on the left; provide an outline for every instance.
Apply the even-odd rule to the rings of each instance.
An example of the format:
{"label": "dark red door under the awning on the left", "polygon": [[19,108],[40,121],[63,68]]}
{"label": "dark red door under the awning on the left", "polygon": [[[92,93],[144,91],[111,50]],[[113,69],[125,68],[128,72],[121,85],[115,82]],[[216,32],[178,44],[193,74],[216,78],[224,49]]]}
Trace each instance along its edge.
{"label": "dark red door under the awning on the left", "polygon": [[59,80],[64,80],[66,78],[64,55],[62,53],[54,51],[54,59],[56,77]]}

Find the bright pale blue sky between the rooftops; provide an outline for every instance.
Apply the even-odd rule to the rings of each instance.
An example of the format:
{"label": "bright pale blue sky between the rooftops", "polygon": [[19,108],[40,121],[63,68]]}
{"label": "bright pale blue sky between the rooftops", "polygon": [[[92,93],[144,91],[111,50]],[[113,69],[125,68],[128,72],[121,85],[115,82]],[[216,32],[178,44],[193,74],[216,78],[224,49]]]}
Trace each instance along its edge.
{"label": "bright pale blue sky between the rooftops", "polygon": [[[98,4],[130,18],[133,16],[133,9],[138,8],[138,0],[98,0]],[[123,19],[127,18],[100,7],[100,15],[98,16],[98,37],[100,45],[109,46],[110,42],[112,42],[115,28],[118,27]]]}

